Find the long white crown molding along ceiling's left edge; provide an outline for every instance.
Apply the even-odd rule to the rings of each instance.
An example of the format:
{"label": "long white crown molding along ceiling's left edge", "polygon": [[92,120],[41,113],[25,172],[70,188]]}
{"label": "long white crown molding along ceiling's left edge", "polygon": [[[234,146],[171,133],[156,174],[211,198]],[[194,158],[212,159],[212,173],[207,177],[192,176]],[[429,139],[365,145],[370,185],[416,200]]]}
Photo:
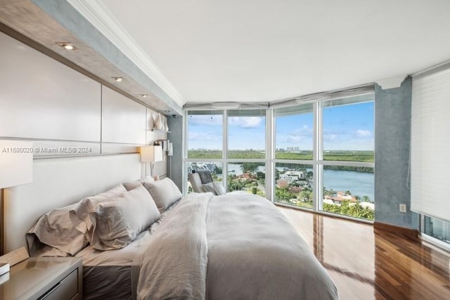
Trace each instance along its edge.
{"label": "long white crown molding along ceiling's left edge", "polygon": [[186,102],[175,87],[162,74],[143,49],[120,25],[109,9],[101,1],[67,0],[86,20],[97,28],[117,49],[127,56],[156,85],[164,90],[177,104]]}

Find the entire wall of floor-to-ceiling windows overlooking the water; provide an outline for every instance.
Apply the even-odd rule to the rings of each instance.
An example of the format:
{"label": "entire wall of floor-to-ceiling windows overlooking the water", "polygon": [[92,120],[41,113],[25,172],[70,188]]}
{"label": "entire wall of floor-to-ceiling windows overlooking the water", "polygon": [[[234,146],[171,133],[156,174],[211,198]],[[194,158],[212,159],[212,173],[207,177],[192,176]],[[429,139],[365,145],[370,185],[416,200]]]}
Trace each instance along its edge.
{"label": "entire wall of floor-to-ceiling windows overlooking the water", "polygon": [[323,99],[186,111],[185,170],[210,170],[227,192],[373,220],[374,94]]}

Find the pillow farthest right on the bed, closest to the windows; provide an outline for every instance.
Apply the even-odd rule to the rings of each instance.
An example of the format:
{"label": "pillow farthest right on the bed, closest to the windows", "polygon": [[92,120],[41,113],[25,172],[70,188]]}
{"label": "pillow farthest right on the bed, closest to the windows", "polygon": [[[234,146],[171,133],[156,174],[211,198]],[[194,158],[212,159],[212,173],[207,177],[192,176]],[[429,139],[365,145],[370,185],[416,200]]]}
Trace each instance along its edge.
{"label": "pillow farthest right on the bed, closest to the windows", "polygon": [[160,213],[163,213],[169,206],[183,196],[174,182],[167,177],[163,180],[142,182],[142,184],[152,195]]}

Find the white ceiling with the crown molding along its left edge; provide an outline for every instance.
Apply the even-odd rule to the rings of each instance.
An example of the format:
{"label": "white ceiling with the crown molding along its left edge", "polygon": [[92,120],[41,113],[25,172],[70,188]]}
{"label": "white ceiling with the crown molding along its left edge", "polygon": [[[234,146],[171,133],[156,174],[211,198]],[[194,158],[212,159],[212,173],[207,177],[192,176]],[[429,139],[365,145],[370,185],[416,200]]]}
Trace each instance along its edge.
{"label": "white ceiling with the crown molding along its left edge", "polygon": [[287,99],[450,59],[448,0],[68,1],[188,102]]}

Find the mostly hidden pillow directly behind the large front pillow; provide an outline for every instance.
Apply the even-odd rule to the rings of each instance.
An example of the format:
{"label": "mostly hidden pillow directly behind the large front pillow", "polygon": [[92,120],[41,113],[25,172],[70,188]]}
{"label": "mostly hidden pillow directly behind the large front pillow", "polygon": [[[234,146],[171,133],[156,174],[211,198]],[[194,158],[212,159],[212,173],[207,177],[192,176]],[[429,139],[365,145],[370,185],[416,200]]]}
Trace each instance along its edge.
{"label": "mostly hidden pillow directly behind the large front pillow", "polygon": [[82,199],[77,205],[70,209],[70,220],[72,220],[73,225],[75,225],[79,232],[86,235],[86,239],[91,239],[92,223],[89,218],[89,213],[94,211],[99,203],[115,199],[117,196],[124,194],[124,192],[127,192],[127,189],[125,189],[123,185],[117,185],[107,192]]}

